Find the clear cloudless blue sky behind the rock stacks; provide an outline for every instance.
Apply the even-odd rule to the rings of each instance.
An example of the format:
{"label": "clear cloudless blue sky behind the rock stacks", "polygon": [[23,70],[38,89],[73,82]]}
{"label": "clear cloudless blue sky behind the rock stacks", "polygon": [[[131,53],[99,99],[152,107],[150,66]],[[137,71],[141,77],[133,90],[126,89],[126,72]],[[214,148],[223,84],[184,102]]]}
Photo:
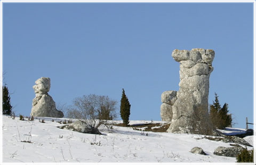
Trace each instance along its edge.
{"label": "clear cloudless blue sky behind the rock stacks", "polygon": [[[56,103],[108,95],[131,120],[161,120],[161,94],[179,90],[174,49],[213,49],[209,103],[229,104],[235,127],[253,122],[252,3],[4,3],[4,83],[29,116],[35,80]],[[120,119],[120,117],[119,117]],[[252,128],[252,126],[251,126]]]}

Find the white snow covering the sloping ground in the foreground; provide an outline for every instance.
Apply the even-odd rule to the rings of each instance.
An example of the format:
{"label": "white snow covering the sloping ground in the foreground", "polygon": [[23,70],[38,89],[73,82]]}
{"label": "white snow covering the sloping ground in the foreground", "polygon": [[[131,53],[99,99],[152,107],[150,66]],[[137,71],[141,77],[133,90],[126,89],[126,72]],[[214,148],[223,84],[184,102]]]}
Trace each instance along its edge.
{"label": "white snow covering the sloping ground in the foreground", "polygon": [[[21,121],[3,116],[4,163],[236,161],[236,158],[213,154],[218,146],[231,147],[229,143],[210,141],[202,138],[203,135],[153,132],[143,135],[131,127],[117,126],[110,130],[100,129],[105,135],[92,135],[57,128],[63,125],[56,122],[60,119],[44,119],[45,123],[42,123],[38,119]],[[151,121],[131,121],[130,124],[146,122]],[[190,153],[195,146],[201,147],[207,155]]]}

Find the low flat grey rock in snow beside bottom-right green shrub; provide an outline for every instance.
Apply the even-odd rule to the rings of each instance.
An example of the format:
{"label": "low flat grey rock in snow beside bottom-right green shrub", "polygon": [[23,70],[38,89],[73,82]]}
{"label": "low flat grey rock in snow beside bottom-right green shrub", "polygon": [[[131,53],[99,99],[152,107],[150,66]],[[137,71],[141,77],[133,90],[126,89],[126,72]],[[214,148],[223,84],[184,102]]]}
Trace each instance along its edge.
{"label": "low flat grey rock in snow beside bottom-right green shrub", "polygon": [[214,155],[219,155],[219,156],[229,156],[229,157],[234,157],[236,158],[237,155],[244,150],[243,147],[241,146],[236,146],[236,147],[218,147],[217,149],[214,150]]}

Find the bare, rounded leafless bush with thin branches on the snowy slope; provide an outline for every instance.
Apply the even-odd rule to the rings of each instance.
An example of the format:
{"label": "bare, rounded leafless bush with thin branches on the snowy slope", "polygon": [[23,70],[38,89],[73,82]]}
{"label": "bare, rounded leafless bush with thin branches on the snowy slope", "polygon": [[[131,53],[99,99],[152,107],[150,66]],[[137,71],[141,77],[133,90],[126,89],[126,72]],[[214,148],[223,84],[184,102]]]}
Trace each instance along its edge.
{"label": "bare, rounded leafless bush with thin branches on the snowy slope", "polygon": [[91,133],[95,133],[102,124],[106,125],[108,120],[116,118],[116,104],[117,101],[108,96],[83,95],[73,100],[73,105],[67,110],[67,117],[83,121]]}

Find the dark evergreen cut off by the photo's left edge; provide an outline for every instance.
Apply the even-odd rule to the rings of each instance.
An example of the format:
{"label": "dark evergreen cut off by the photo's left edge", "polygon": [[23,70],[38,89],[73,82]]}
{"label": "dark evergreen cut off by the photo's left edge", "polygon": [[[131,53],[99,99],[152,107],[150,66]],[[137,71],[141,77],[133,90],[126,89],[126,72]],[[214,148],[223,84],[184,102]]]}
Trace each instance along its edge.
{"label": "dark evergreen cut off by the photo's left edge", "polygon": [[9,95],[9,90],[5,86],[3,86],[3,114],[11,115],[12,113],[12,105],[11,105],[11,97]]}

